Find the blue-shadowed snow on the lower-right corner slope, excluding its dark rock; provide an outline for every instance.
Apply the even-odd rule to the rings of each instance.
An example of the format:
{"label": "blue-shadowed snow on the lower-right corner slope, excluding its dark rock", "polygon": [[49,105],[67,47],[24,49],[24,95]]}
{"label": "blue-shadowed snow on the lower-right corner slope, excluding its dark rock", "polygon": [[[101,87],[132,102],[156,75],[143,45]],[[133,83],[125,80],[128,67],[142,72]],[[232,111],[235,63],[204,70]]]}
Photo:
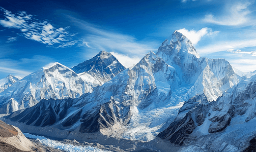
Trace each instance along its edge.
{"label": "blue-shadowed snow on the lower-right corner slope, excluding its dark rock", "polygon": [[[248,147],[250,139],[256,134],[255,85],[256,75],[253,75],[223,93],[209,109],[211,115],[207,113],[204,123],[193,130],[187,140],[189,146],[179,151],[243,151]],[[213,123],[210,120],[230,116],[230,110],[234,113],[230,124],[222,131],[209,133]]]}

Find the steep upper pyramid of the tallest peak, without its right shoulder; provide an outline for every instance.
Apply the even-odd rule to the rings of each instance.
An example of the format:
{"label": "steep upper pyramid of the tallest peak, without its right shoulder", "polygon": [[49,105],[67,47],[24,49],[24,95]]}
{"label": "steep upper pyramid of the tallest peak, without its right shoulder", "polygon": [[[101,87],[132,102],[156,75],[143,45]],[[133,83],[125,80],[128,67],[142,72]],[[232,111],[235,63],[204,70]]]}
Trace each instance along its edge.
{"label": "steep upper pyramid of the tallest peak, without its right shoulder", "polygon": [[186,84],[194,83],[201,72],[197,61],[200,56],[187,37],[178,31],[162,43],[156,54],[168,65],[174,66]]}

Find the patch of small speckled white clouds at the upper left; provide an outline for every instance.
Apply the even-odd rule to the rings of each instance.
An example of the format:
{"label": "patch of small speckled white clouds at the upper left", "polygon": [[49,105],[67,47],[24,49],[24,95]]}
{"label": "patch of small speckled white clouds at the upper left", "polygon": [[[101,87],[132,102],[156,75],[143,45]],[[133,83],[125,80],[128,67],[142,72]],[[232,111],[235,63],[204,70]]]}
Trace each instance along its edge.
{"label": "patch of small speckled white clouds at the upper left", "polygon": [[[19,35],[33,41],[43,43],[47,46],[57,45],[56,47],[64,48],[73,46],[77,41],[73,40],[75,34],[67,31],[69,27],[55,28],[47,21],[40,22],[33,15],[26,12],[12,12],[0,7],[4,12],[5,19],[0,20],[0,24],[6,28],[19,29]],[[10,39],[10,38],[9,38]],[[8,40],[9,40],[8,39]],[[15,41],[14,38],[7,42]]]}

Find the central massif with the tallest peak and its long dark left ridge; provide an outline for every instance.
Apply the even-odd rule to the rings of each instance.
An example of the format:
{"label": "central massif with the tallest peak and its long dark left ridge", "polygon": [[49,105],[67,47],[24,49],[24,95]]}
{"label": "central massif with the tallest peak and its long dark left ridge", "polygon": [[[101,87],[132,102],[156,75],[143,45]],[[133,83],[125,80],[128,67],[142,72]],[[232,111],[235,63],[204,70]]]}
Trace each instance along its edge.
{"label": "central massif with the tallest peak and its long dark left ridge", "polygon": [[[191,42],[175,31],[156,54],[148,53],[91,94],[72,99],[71,106],[45,100],[38,110],[34,106],[9,119],[32,126],[40,121],[43,126],[50,112],[54,123],[47,125],[58,129],[150,141],[175,120],[185,101],[200,95],[210,103],[240,80],[229,62],[200,58]],[[58,113],[64,109],[61,119]],[[31,115],[42,119],[31,120]]]}

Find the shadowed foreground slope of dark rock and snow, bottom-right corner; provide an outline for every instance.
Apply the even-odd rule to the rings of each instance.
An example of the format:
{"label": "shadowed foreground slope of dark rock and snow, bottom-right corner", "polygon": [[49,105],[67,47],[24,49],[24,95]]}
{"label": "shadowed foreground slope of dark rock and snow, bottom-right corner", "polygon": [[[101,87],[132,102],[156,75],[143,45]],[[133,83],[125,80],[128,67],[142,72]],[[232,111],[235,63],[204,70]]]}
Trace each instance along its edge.
{"label": "shadowed foreground slope of dark rock and snow, bottom-right corner", "polygon": [[255,138],[256,76],[241,80],[216,102],[204,96],[184,103],[158,137],[184,145],[181,151],[244,151]]}

